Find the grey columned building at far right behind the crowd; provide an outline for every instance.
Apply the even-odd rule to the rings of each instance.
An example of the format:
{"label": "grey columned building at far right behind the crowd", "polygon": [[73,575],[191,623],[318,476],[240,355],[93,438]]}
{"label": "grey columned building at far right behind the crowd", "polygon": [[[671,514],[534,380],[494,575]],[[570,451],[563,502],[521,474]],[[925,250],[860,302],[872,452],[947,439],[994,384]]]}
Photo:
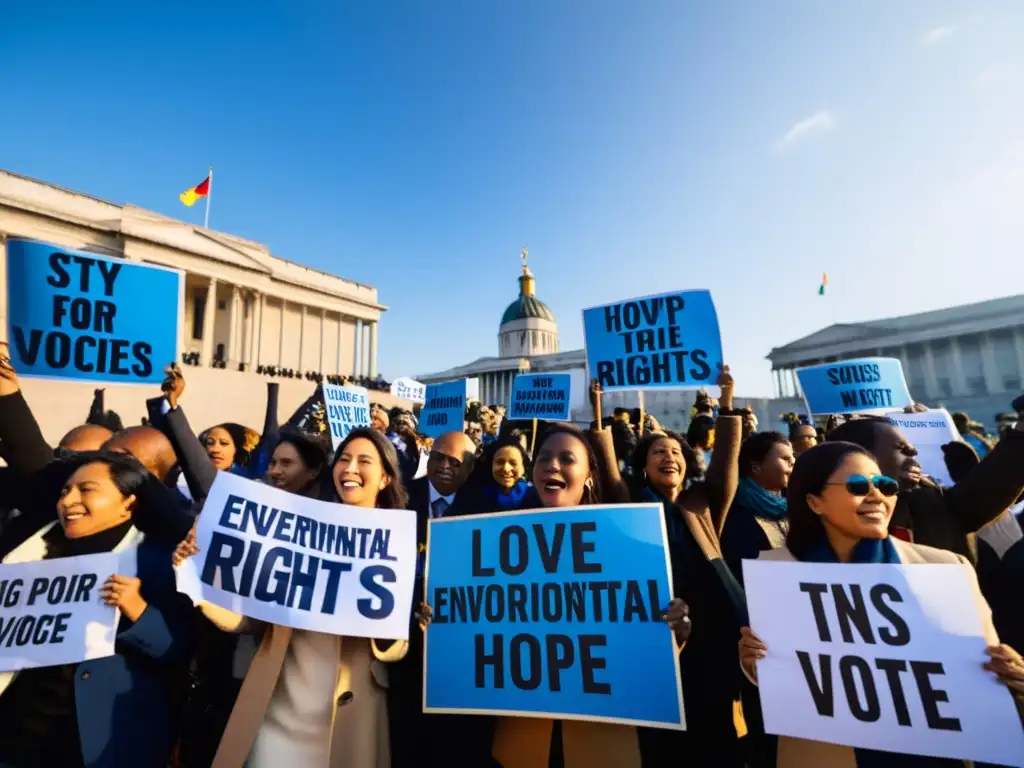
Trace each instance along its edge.
{"label": "grey columned building at far right behind the crowd", "polygon": [[776,347],[768,359],[778,407],[803,409],[798,368],[865,356],[900,359],[915,400],[994,427],[1024,383],[1024,296],[838,324]]}

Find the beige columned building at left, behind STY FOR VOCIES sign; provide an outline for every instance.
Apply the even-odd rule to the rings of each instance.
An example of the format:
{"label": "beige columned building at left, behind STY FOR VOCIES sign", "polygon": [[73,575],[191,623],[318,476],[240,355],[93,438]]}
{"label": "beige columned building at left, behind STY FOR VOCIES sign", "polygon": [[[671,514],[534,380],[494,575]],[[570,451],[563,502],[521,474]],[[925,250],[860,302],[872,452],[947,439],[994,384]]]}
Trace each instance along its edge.
{"label": "beige columned building at left, behind STY FOR VOCIES sign", "polygon": [[[281,383],[281,419],[312,391],[303,376],[368,377],[377,371],[378,324],[387,307],[377,289],[301,266],[243,238],[196,226],[131,204],[119,205],[0,171],[0,321],[7,333],[7,238],[155,264],[182,278],[178,362],[182,406],[193,426],[234,421],[260,429],[265,384]],[[163,361],[166,365],[171,360]],[[268,378],[286,370],[291,376]],[[125,425],[145,415],[147,387],[96,384]],[[25,379],[46,437],[55,442],[85,421],[92,385]],[[371,392],[387,404],[386,392]],[[408,404],[408,403],[407,403]]]}

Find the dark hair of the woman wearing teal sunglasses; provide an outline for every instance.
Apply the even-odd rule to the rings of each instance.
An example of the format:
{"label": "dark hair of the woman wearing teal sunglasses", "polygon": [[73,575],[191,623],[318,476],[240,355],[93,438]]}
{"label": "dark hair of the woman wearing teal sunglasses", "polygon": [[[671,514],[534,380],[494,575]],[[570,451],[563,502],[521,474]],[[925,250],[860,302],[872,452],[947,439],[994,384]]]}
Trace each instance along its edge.
{"label": "dark hair of the woman wearing teal sunglasses", "polygon": [[818,496],[824,490],[825,483],[836,468],[846,457],[854,454],[866,456],[874,461],[874,457],[867,449],[855,442],[836,440],[808,449],[797,459],[786,490],[790,505],[790,532],[785,537],[785,546],[798,558],[825,536],[821,518],[811,510],[807,497]]}

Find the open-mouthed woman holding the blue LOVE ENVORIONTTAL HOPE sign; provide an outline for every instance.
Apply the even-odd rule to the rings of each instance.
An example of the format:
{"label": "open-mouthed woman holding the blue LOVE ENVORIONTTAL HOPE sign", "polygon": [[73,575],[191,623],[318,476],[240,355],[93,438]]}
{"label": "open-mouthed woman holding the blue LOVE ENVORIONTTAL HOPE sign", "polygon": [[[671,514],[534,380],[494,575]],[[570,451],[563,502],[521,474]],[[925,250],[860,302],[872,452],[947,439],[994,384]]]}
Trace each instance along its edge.
{"label": "open-mouthed woman holding the blue LOVE ENVORIONTTAL HOPE sign", "polygon": [[[538,506],[577,507],[602,501],[597,458],[584,432],[571,425],[553,424],[547,429],[537,445],[532,476],[529,498]],[[672,601],[665,620],[677,640],[685,643],[690,625],[682,600]],[[585,721],[500,718],[494,756],[503,768],[640,768],[635,728]]]}

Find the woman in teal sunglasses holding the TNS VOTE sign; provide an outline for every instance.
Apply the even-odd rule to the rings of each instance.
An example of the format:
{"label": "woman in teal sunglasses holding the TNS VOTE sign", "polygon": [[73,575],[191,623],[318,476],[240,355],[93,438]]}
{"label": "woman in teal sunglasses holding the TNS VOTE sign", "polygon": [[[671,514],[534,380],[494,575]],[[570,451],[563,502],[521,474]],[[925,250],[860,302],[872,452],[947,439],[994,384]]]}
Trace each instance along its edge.
{"label": "woman in teal sunglasses holding the TNS VOTE sign", "polygon": [[[991,611],[977,588],[974,568],[963,555],[910,544],[889,536],[889,519],[896,508],[899,482],[887,477],[867,451],[852,442],[825,442],[804,453],[790,477],[790,532],[785,546],[762,552],[760,559],[831,563],[961,564],[975,585],[978,614],[990,656],[985,668],[1016,693],[1024,693],[1024,660],[1010,646],[1000,645]],[[757,683],[757,662],[767,647],[742,629],[739,663]],[[979,659],[979,663],[981,659]],[[805,766],[865,766],[895,764],[891,753],[854,749],[809,739],[780,736],[778,768]],[[887,760],[889,762],[887,762]],[[901,756],[907,768],[959,765],[957,761]]]}

